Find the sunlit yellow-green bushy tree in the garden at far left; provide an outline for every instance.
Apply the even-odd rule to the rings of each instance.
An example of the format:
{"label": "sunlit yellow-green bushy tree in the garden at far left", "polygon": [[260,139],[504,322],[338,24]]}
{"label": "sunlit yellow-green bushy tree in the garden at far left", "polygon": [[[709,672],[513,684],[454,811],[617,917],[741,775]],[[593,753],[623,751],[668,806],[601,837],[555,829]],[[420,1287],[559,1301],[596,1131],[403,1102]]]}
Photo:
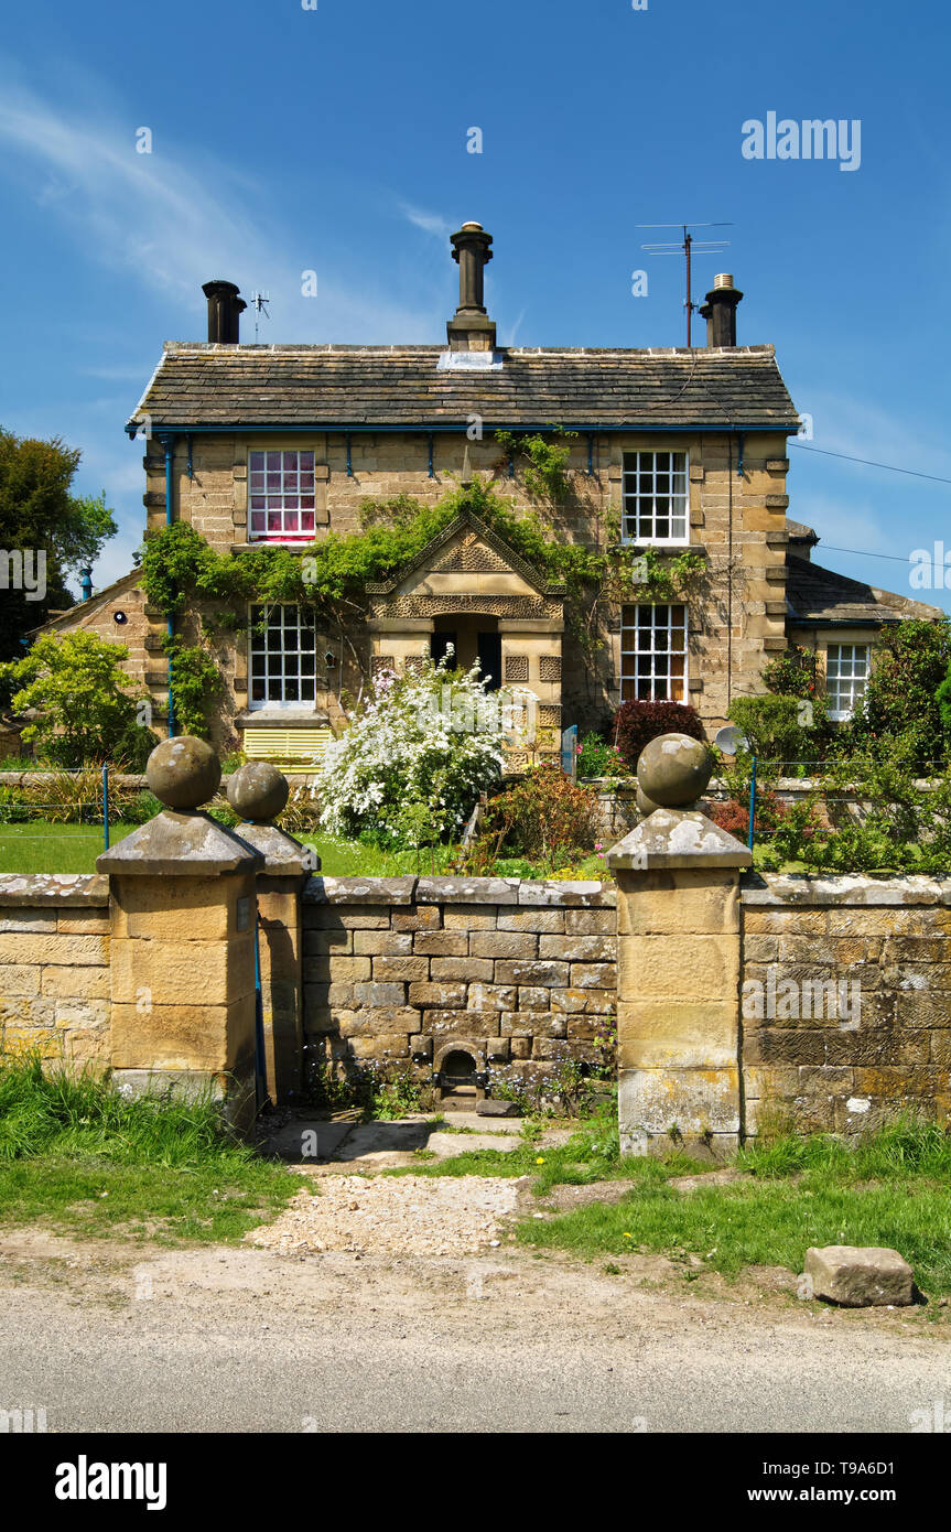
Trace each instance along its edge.
{"label": "sunlit yellow-green bushy tree in the garden at far left", "polygon": [[113,761],[138,769],[155,745],[141,688],[132,686],[121,663],[124,643],[106,643],[95,633],[66,637],[46,633],[21,660],[0,665],[0,685],[12,689],[17,712],[35,712],[23,738],[57,766],[78,768]]}

